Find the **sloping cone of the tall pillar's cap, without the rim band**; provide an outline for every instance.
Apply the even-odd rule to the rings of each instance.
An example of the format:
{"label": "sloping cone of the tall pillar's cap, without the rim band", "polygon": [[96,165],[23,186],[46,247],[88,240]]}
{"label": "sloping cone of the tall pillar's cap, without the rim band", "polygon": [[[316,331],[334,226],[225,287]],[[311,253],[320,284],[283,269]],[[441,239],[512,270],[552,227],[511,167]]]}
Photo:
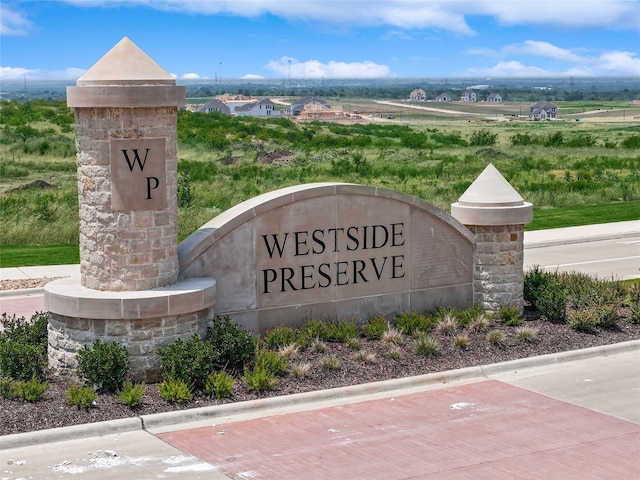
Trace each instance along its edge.
{"label": "sloping cone of the tall pillar's cap, without the rim band", "polygon": [[176,80],[124,37],[76,82],[88,85],[175,85]]}

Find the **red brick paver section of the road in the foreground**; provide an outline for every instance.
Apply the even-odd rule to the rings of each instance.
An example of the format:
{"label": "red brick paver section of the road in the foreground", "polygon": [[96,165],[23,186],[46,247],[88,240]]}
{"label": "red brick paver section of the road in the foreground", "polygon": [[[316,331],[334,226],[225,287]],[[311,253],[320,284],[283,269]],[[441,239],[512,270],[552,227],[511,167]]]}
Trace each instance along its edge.
{"label": "red brick paver section of the road in the foreground", "polygon": [[498,381],[158,437],[234,479],[640,479],[640,425]]}

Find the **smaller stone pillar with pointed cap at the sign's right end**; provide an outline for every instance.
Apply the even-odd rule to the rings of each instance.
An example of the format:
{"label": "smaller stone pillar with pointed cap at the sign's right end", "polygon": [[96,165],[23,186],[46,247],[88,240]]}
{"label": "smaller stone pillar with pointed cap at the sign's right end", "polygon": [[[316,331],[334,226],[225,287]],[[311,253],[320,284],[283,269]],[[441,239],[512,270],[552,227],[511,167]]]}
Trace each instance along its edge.
{"label": "smaller stone pillar with pointed cap at the sign's right end", "polygon": [[473,301],[488,311],[524,308],[524,224],[533,218],[525,202],[489,164],[456,203],[451,216],[476,237]]}

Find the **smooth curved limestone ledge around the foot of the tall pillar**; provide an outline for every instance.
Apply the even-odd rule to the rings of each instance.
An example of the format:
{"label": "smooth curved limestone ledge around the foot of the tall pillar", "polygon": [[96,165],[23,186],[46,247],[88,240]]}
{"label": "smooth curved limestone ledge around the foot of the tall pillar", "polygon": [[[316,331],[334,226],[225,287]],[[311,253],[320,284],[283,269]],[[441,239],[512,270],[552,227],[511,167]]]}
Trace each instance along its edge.
{"label": "smooth curved limestone ledge around the foot of the tall pillar", "polygon": [[213,278],[190,278],[151,290],[109,292],[80,285],[79,277],[44,287],[45,309],[70,318],[137,320],[197,312],[216,302]]}

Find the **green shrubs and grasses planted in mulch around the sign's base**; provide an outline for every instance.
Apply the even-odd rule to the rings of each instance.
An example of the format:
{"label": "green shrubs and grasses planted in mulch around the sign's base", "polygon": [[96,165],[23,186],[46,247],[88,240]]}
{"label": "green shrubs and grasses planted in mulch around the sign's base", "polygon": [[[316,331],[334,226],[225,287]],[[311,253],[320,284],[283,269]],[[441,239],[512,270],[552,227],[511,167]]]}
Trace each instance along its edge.
{"label": "green shrubs and grasses planted in mulch around the sign's base", "polygon": [[[610,282],[535,267],[525,273],[524,296],[543,322],[579,334],[616,331],[625,328],[625,322],[640,324],[637,281]],[[46,396],[51,373],[46,368],[46,315],[30,320],[4,315],[0,321],[0,397],[37,402]],[[503,350],[539,341],[538,330],[528,323],[512,305],[493,314],[477,306],[440,307],[433,312],[399,312],[391,318],[374,315],[365,322],[309,320],[297,328],[278,326],[256,336],[228,317],[216,317],[202,338],[193,335],[158,350],[163,379],[157,387],[172,403],[189,402],[196,395],[224,399],[233,396],[238,384],[263,392],[277,389],[285,376],[302,379],[310,369],[339,371],[341,360],[328,352],[332,344],[344,345],[357,364],[366,365],[378,361],[369,342],[384,345],[388,360],[407,352],[437,357],[446,345],[466,352],[479,341],[484,348]],[[296,361],[303,351],[314,353],[317,361]],[[128,377],[124,346],[96,341],[80,350],[78,365],[77,379],[66,391],[69,404],[91,408],[98,391],[132,408],[144,403],[146,386]]]}

